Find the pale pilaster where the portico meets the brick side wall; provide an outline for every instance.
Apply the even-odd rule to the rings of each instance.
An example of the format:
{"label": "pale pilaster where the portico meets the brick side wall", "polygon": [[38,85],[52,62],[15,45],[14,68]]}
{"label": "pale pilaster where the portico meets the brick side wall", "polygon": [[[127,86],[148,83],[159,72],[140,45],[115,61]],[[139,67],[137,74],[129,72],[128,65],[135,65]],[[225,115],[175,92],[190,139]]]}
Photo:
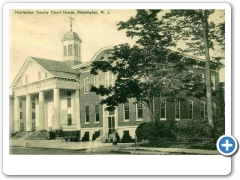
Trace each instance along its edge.
{"label": "pale pilaster where the portico meets the brick side wall", "polygon": [[79,90],[76,90],[73,99],[73,121],[77,124],[77,130],[80,130],[80,103],[79,103]]}

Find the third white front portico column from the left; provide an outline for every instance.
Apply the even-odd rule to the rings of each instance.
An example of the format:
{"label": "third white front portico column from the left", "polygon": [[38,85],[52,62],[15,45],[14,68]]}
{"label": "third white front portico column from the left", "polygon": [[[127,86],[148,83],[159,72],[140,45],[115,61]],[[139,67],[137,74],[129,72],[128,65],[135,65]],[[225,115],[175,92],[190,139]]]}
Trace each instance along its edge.
{"label": "third white front portico column from the left", "polygon": [[45,130],[44,92],[39,92],[39,127],[38,130]]}

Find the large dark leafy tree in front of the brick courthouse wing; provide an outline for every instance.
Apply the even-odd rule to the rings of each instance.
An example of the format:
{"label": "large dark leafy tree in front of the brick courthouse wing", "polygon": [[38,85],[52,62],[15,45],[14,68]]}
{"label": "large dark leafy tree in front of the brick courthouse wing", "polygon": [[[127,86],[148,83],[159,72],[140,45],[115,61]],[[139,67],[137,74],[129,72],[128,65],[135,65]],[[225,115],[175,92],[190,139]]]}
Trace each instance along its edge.
{"label": "large dark leafy tree in front of the brick courthouse wing", "polygon": [[107,110],[113,110],[118,104],[135,98],[142,102],[151,112],[151,121],[156,114],[154,98],[161,95],[169,101],[177,98],[177,93],[187,90],[188,94],[202,94],[203,86],[200,77],[193,77],[186,69],[179,52],[169,47],[174,42],[169,34],[168,24],[157,17],[161,10],[137,10],[136,16],[126,22],[118,23],[118,30],[126,30],[126,35],[136,38],[136,43],[114,46],[108,61],[92,63],[91,73],[110,71],[117,76],[114,86],[92,87],[103,98],[101,104]]}

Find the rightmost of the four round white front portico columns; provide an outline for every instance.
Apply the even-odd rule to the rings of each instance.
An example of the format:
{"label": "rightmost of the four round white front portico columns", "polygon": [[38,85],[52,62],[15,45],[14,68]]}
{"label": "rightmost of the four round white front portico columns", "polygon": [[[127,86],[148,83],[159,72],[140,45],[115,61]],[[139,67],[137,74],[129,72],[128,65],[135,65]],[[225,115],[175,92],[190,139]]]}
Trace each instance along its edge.
{"label": "rightmost of the four round white front portico columns", "polygon": [[59,89],[53,90],[53,130],[60,129],[60,94]]}

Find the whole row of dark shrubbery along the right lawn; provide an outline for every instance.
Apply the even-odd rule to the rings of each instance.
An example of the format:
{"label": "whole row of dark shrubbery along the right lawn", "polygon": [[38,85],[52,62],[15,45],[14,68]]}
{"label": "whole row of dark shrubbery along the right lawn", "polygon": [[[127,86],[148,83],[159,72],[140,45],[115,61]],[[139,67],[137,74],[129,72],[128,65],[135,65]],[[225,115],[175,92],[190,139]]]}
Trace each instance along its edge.
{"label": "whole row of dark shrubbery along the right lawn", "polygon": [[217,139],[225,133],[225,121],[217,119],[214,124],[215,126],[212,127],[207,121],[201,119],[178,122],[162,121],[157,126],[151,122],[144,122],[136,129],[136,135],[138,142],[149,141],[138,143],[138,145],[215,150]]}

